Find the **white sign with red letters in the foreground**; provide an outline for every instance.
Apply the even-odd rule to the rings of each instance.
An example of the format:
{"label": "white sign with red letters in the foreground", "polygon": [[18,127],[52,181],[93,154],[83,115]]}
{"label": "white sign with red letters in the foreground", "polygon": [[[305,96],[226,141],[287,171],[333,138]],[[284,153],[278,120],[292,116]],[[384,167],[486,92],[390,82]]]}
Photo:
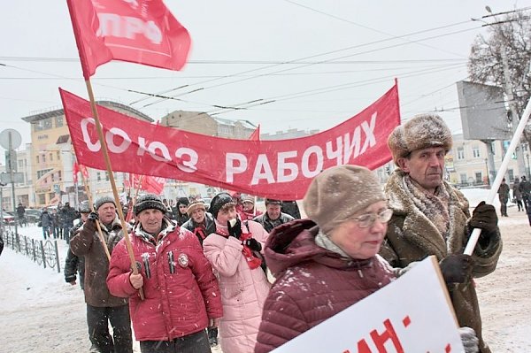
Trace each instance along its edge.
{"label": "white sign with red letters in the foreground", "polygon": [[435,257],[273,353],[464,352]]}

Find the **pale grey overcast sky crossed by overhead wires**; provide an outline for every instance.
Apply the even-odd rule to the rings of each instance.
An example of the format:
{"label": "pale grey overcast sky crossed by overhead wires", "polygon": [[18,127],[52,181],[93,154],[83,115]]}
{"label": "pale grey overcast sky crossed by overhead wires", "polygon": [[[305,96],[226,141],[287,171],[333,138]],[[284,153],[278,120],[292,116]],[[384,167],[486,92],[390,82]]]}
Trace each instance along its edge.
{"label": "pale grey overcast sky crossed by overhead wires", "polygon": [[[531,0],[165,4],[189,29],[189,63],[181,72],[118,61],[102,65],[91,79],[96,99],[142,99],[132,106],[156,120],[176,110],[206,111],[259,123],[263,133],[324,130],[366,108],[397,78],[402,119],[441,111],[458,131],[455,82],[466,80],[474,37],[487,33],[471,18],[487,15],[485,5],[496,13],[531,6]],[[6,1],[2,14],[0,130],[14,128],[30,142],[29,124],[21,118],[60,108],[58,87],[88,95],[65,0]],[[181,101],[127,91],[159,93],[185,85],[169,93]],[[274,102],[245,104],[258,99]]]}

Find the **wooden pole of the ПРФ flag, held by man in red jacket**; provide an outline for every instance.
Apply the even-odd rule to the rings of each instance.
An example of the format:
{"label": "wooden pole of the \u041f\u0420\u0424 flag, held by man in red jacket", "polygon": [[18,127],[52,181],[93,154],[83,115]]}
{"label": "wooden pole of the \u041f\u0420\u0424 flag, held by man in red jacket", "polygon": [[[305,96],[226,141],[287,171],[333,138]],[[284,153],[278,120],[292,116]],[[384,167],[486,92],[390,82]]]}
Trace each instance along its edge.
{"label": "wooden pole of the \u041f\u0420\u0424 flag, held by man in red jacket", "polygon": [[[127,231],[127,224],[124,219],[124,212],[119,203],[118,189],[116,188],[116,182],[114,180],[114,174],[112,173],[111,158],[109,158],[109,151],[107,150],[107,143],[105,143],[104,131],[97,114],[96,102],[94,100],[94,93],[92,91],[92,85],[90,84],[90,79],[85,80],[87,85],[87,92],[89,93],[90,98],[90,109],[92,110],[92,116],[96,122],[97,136],[99,138],[102,152],[104,153],[105,166],[107,167],[107,173],[109,174],[109,180],[111,181],[112,195],[114,196],[114,202],[116,203],[116,208],[118,209],[119,221],[122,226],[122,232],[124,234],[124,239],[126,241],[127,253],[129,254],[129,260],[131,260],[131,269],[134,274],[138,274],[138,269],[136,268],[135,254],[133,253],[133,245],[131,244],[131,239],[129,238],[129,233]],[[140,297],[144,299],[142,287],[138,289]]]}

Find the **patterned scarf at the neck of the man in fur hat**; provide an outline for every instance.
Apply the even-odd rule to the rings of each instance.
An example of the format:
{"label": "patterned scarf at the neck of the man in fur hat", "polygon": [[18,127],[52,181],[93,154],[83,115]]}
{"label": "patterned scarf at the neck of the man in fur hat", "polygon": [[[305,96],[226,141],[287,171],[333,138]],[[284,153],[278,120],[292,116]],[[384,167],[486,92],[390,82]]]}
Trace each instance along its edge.
{"label": "patterned scarf at the neck of the man in fur hat", "polygon": [[429,219],[446,240],[450,228],[450,194],[444,185],[435,189],[435,194],[420,188],[409,174],[404,175],[405,192],[411,196],[412,202],[419,211]]}

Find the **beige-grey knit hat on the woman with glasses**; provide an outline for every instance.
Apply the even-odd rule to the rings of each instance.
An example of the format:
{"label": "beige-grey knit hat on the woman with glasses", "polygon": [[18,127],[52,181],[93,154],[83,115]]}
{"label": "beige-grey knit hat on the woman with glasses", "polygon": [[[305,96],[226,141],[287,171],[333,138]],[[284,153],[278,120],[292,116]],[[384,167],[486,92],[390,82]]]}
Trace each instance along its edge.
{"label": "beige-grey knit hat on the woman with glasses", "polygon": [[338,165],[313,178],[304,196],[304,211],[328,234],[358,211],[385,199],[373,172],[359,165]]}

